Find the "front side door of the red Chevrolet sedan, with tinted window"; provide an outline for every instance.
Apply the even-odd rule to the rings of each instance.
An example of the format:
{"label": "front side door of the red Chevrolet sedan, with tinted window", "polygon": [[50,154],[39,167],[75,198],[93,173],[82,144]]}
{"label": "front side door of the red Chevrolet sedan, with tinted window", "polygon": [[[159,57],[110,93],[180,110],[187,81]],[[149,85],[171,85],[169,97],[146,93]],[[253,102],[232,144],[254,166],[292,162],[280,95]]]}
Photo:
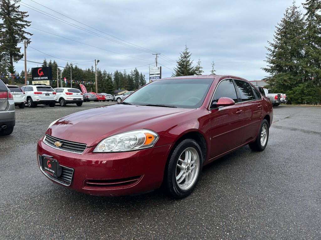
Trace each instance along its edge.
{"label": "front side door of the red Chevrolet sedan, with tinted window", "polygon": [[232,148],[238,147],[243,138],[243,121],[241,103],[238,103],[232,79],[222,80],[213,95],[212,102],[221,97],[229,97],[236,104],[227,107],[210,108],[211,150],[210,157],[218,156]]}

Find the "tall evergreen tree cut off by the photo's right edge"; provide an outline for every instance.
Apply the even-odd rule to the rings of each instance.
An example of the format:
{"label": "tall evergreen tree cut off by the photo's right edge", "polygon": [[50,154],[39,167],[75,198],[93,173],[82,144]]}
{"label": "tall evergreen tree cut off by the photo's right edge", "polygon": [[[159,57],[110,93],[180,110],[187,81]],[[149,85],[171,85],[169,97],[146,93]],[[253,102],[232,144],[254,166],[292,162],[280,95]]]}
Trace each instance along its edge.
{"label": "tall evergreen tree cut off by the photo's right edge", "polygon": [[[307,11],[304,14],[306,29],[304,34],[304,80],[321,85],[321,10],[320,0],[307,0],[302,4]],[[312,80],[313,79],[313,80]]]}

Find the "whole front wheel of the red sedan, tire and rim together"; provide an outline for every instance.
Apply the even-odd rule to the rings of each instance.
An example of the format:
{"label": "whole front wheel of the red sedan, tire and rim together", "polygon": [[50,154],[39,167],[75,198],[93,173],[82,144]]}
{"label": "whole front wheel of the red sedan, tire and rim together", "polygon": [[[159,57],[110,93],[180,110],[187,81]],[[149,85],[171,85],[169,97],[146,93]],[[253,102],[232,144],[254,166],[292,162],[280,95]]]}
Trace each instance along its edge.
{"label": "whole front wheel of the red sedan, tire and rim together", "polygon": [[180,142],[168,160],[164,185],[172,197],[183,198],[194,190],[202,172],[203,157],[193,139]]}

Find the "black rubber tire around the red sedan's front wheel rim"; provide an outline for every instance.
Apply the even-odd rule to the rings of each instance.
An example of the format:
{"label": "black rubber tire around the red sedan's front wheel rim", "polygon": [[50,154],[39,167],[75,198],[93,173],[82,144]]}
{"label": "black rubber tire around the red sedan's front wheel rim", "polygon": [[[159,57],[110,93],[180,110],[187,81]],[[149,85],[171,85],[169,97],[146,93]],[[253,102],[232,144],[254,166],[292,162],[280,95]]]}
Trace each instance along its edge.
{"label": "black rubber tire around the red sedan's front wheel rim", "polygon": [[[195,154],[198,154],[199,164],[198,164],[198,172],[195,173],[195,180],[191,186],[189,186],[188,189],[183,190],[178,186],[177,180],[176,180],[176,174],[177,174],[177,164],[178,164],[178,158],[183,154],[183,152],[187,149],[194,149],[193,151]],[[174,198],[183,198],[191,194],[193,192],[195,186],[197,185],[197,182],[200,178],[201,172],[202,172],[202,165],[203,165],[203,155],[202,150],[198,143],[193,139],[185,139],[181,141],[171,152],[171,155],[169,156],[169,159],[167,161],[166,167],[165,167],[165,175],[164,175],[164,182],[163,185],[166,188],[167,192],[170,196]],[[188,168],[189,170],[189,168]],[[195,170],[196,171],[196,170]],[[183,178],[184,179],[184,178]],[[186,181],[186,180],[184,180]]]}

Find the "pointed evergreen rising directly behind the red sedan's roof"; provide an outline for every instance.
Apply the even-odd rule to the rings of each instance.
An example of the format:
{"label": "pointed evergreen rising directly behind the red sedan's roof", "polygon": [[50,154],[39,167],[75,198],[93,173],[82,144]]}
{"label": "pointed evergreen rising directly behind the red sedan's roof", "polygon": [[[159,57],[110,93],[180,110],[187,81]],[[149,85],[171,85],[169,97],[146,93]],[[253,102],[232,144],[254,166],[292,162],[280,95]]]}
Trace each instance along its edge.
{"label": "pointed evergreen rising directly behind the red sedan's roof", "polygon": [[192,66],[193,60],[191,60],[191,55],[188,51],[187,45],[185,49],[180,53],[179,59],[176,61],[176,67],[174,67],[174,73],[172,76],[190,76],[195,75],[195,68]]}

